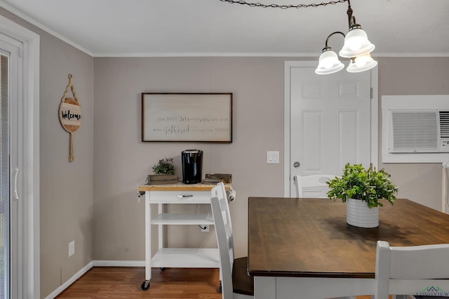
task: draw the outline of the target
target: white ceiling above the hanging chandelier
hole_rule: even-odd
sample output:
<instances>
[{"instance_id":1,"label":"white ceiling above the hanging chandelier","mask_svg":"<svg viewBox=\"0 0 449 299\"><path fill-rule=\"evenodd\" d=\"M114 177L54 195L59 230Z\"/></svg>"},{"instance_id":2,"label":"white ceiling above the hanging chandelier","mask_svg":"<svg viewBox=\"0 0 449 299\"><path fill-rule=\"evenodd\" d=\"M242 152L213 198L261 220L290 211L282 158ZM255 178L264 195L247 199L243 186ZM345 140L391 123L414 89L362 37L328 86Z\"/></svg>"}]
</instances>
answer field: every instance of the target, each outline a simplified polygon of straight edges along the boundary
<instances>
[{"instance_id":1,"label":"white ceiling above the hanging chandelier","mask_svg":"<svg viewBox=\"0 0 449 299\"><path fill-rule=\"evenodd\" d=\"M247 0L311 4L326 0ZM93 56L317 56L348 31L347 2L260 8L220 0L0 0ZM449 56L448 0L351 0L376 56ZM341 35L329 46L339 51Z\"/></svg>"}]
</instances>

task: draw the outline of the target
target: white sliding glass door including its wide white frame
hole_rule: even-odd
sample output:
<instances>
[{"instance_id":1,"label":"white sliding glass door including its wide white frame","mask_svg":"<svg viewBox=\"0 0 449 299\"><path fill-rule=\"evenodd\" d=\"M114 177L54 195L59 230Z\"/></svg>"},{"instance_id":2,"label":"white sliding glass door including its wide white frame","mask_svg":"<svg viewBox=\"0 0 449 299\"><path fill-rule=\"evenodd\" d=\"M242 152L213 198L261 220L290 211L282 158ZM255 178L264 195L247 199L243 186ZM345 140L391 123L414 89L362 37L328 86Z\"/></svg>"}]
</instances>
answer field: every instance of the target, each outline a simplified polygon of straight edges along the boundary
<instances>
[{"instance_id":1,"label":"white sliding glass door including its wide white frame","mask_svg":"<svg viewBox=\"0 0 449 299\"><path fill-rule=\"evenodd\" d=\"M0 298L40 298L39 35L3 16L0 32Z\"/></svg>"}]
</instances>

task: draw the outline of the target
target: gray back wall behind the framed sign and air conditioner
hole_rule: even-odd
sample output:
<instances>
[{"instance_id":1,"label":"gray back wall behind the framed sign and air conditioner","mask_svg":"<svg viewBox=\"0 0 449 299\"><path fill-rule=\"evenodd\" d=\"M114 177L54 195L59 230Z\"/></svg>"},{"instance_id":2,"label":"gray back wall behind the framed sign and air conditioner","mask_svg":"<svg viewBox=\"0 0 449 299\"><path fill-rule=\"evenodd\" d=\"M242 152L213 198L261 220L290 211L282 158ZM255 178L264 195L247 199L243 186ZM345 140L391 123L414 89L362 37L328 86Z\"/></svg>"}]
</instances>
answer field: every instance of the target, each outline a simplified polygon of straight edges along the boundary
<instances>
[{"instance_id":1,"label":"gray back wall behind the framed sign and air conditioner","mask_svg":"<svg viewBox=\"0 0 449 299\"><path fill-rule=\"evenodd\" d=\"M280 164L266 164L265 154L283 153L283 63L295 59L95 58L93 258L145 258L144 201L137 201L136 187L163 157L175 157L181 175L180 152L188 148L204 150L204 172L232 173L237 192L230 205L236 255L246 255L248 197L283 196L283 157ZM449 58L380 58L379 95L449 94L448 69ZM140 142L141 92L234 93L234 141L229 145ZM381 117L380 113L379 124ZM381 156L380 140L381 134ZM441 209L441 164L380 167L391 172L400 187L398 197ZM171 246L215 241L213 234L202 241L205 233L197 227L170 229ZM156 241L154 237L153 250Z\"/></svg>"}]
</instances>

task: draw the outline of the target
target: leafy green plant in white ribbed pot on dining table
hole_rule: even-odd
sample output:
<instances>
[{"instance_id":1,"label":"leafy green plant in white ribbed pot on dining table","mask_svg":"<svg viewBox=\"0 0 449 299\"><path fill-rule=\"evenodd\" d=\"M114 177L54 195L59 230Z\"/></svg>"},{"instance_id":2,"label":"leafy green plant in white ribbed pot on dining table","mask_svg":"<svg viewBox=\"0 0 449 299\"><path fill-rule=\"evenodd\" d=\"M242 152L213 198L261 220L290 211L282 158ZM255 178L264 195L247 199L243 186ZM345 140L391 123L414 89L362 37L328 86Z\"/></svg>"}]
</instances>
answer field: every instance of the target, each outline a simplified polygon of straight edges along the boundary
<instances>
[{"instance_id":1,"label":"leafy green plant in white ribbed pot on dining table","mask_svg":"<svg viewBox=\"0 0 449 299\"><path fill-rule=\"evenodd\" d=\"M358 227L379 226L381 200L393 204L398 192L384 169L376 171L373 166L366 169L361 164L346 164L341 177L326 183L330 188L328 197L347 202L347 222Z\"/></svg>"}]
</instances>

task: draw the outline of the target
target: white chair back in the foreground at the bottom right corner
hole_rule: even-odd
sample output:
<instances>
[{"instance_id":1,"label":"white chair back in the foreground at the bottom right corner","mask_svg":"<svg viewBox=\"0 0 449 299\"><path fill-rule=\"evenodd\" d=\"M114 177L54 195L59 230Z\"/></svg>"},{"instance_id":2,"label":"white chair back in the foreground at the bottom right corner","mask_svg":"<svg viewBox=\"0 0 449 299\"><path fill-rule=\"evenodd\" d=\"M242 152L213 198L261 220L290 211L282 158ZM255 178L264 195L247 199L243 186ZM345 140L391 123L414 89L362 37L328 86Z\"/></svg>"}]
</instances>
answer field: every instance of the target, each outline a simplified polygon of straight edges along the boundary
<instances>
[{"instance_id":1,"label":"white chair back in the foreground at the bottom right corner","mask_svg":"<svg viewBox=\"0 0 449 299\"><path fill-rule=\"evenodd\" d=\"M449 244L399 247L377 241L374 298L389 294L449 298Z\"/></svg>"}]
</instances>

